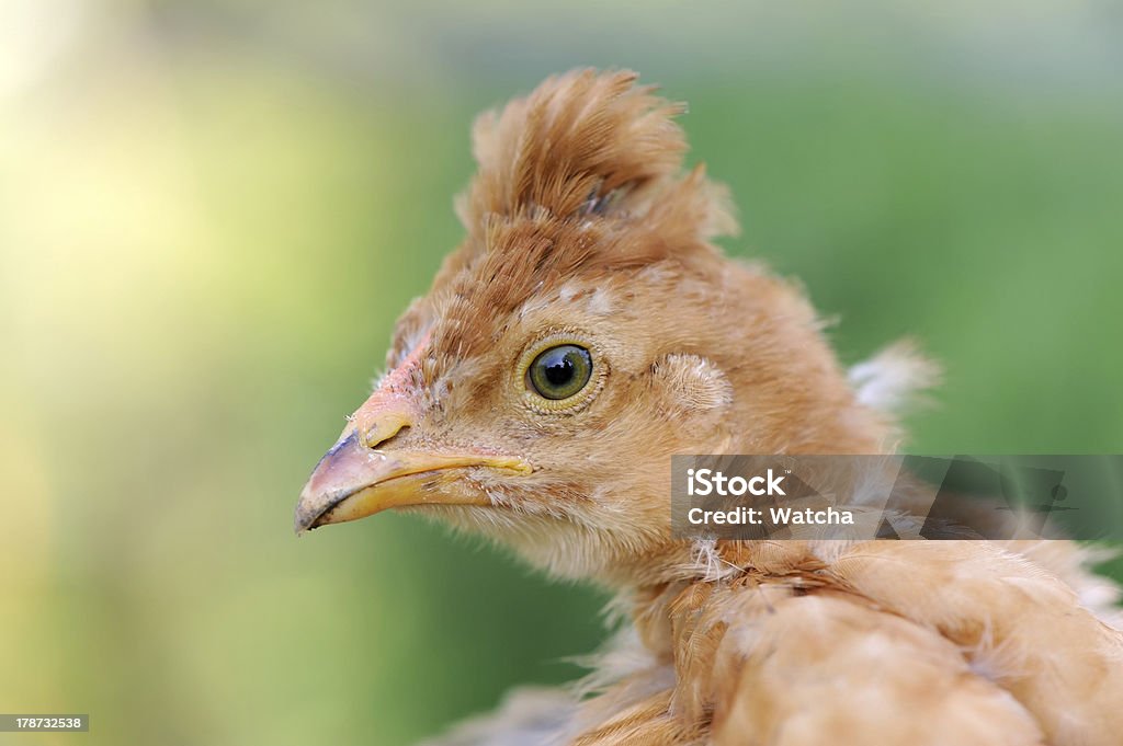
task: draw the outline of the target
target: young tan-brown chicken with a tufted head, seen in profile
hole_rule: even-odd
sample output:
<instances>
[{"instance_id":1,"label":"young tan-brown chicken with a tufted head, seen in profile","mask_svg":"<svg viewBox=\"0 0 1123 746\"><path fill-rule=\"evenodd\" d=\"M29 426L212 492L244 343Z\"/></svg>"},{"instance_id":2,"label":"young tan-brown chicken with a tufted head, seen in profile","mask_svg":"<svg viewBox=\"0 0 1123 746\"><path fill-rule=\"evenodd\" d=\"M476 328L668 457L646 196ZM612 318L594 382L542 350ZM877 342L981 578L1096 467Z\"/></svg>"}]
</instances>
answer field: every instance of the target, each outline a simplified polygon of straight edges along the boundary
<instances>
[{"instance_id":1,"label":"young tan-brown chicken with a tufted head, seen in profile","mask_svg":"<svg viewBox=\"0 0 1123 746\"><path fill-rule=\"evenodd\" d=\"M299 531L437 516L617 593L581 688L447 744L1123 743L1115 588L1066 542L675 540L675 453L885 453L910 379L848 379L798 286L711 243L682 108L575 72L486 113L466 231L316 468Z\"/></svg>"}]
</instances>

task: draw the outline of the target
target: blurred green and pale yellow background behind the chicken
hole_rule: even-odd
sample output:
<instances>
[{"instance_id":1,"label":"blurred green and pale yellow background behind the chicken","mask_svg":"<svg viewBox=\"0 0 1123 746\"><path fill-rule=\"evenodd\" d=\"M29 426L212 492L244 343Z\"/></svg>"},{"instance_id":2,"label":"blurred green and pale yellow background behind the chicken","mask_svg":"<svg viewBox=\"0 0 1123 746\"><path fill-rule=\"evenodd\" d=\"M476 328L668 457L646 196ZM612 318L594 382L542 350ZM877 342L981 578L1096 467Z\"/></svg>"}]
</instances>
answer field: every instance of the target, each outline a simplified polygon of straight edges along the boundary
<instances>
[{"instance_id":1,"label":"blurred green and pale yellow background behind the chicken","mask_svg":"<svg viewBox=\"0 0 1123 746\"><path fill-rule=\"evenodd\" d=\"M690 102L731 252L930 452L1123 451L1117 2L0 0L0 711L33 744L407 744L559 682L595 592L304 477L459 239L480 110L577 65ZM1119 565L1116 565L1119 569ZM18 742L0 734L0 743Z\"/></svg>"}]
</instances>

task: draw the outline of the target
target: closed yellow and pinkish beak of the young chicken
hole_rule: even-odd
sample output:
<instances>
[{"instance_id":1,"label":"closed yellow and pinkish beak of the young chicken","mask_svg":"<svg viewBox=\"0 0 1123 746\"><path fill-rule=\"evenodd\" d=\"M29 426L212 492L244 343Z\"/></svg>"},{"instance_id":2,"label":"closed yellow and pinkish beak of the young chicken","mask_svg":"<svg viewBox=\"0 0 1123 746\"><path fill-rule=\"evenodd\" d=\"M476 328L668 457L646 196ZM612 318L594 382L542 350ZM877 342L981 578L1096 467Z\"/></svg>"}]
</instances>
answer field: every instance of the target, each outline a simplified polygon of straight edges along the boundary
<instances>
[{"instance_id":1,"label":"closed yellow and pinkish beak of the young chicken","mask_svg":"<svg viewBox=\"0 0 1123 746\"><path fill-rule=\"evenodd\" d=\"M296 533L409 505L490 506L482 491L447 489L472 467L531 471L530 464L512 457L377 451L365 448L358 432L351 431L320 459L304 485L296 504Z\"/></svg>"}]
</instances>

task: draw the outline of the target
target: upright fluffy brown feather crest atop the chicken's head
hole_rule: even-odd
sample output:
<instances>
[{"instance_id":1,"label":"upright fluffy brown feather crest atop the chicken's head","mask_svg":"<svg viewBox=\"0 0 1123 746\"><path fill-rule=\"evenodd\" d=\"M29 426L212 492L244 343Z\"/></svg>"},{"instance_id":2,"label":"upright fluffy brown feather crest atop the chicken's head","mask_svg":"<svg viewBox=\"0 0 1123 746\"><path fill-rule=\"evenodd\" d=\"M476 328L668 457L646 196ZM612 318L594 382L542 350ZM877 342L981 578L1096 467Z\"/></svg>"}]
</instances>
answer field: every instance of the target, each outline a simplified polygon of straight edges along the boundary
<instances>
[{"instance_id":1,"label":"upright fluffy brown feather crest atop the chicken's head","mask_svg":"<svg viewBox=\"0 0 1123 746\"><path fill-rule=\"evenodd\" d=\"M679 178L686 139L674 117L685 107L636 80L629 71L573 71L481 116L478 173L457 203L469 233L482 238L491 215L634 218L656 203L674 206L667 197L703 237L734 232L723 191L701 172Z\"/></svg>"}]
</instances>

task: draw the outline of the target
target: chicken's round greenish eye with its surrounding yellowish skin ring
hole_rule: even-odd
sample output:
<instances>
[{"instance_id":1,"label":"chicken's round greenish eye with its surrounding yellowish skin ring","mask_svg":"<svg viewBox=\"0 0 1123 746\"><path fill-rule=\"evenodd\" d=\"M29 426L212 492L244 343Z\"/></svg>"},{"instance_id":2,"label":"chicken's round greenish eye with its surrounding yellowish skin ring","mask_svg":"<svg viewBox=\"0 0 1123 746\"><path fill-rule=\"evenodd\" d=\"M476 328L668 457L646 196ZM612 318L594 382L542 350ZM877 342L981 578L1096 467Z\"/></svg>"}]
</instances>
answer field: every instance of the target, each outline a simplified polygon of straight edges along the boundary
<instances>
[{"instance_id":1,"label":"chicken's round greenish eye with its surrounding yellowish skin ring","mask_svg":"<svg viewBox=\"0 0 1123 746\"><path fill-rule=\"evenodd\" d=\"M515 383L535 412L572 414L600 392L605 372L595 346L570 334L551 334L522 353Z\"/></svg>"}]
</instances>

